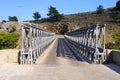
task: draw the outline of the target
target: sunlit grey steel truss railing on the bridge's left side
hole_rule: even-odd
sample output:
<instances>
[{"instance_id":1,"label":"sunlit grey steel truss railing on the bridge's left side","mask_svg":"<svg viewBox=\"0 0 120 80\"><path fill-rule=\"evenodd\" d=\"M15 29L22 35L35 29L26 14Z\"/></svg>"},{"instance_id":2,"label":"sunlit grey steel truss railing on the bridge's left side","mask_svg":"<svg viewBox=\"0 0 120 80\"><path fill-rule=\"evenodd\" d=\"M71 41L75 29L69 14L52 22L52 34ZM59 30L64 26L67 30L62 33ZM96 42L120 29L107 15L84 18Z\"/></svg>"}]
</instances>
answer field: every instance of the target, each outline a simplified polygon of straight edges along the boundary
<instances>
[{"instance_id":1,"label":"sunlit grey steel truss railing on the bridge's left side","mask_svg":"<svg viewBox=\"0 0 120 80\"><path fill-rule=\"evenodd\" d=\"M55 33L35 25L22 26L22 50L20 64L33 64L53 42Z\"/></svg>"}]
</instances>

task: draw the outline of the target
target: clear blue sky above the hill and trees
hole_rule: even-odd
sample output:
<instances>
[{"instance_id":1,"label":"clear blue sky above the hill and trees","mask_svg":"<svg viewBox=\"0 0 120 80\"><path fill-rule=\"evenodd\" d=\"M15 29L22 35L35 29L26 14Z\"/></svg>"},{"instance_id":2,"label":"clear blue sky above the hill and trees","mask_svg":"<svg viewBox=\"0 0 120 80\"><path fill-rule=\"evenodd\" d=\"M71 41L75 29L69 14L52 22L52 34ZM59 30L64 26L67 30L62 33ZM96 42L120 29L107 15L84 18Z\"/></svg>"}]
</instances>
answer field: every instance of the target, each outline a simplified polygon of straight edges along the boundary
<instances>
[{"instance_id":1,"label":"clear blue sky above the hill and trees","mask_svg":"<svg viewBox=\"0 0 120 80\"><path fill-rule=\"evenodd\" d=\"M39 12L47 17L48 8L56 7L61 14L74 14L95 11L99 5L104 8L114 7L118 0L1 0L0 21L8 16L17 16L20 21L33 20L33 13Z\"/></svg>"}]
</instances>

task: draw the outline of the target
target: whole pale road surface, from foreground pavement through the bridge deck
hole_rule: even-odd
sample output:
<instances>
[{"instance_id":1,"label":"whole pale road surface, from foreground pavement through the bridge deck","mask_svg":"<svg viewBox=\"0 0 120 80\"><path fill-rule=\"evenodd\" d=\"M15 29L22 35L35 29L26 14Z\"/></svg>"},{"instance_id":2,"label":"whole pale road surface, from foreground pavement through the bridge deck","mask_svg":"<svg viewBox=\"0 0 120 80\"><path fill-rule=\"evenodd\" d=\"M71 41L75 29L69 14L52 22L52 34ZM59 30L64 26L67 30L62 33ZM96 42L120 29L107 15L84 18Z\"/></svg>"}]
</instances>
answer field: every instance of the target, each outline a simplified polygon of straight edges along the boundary
<instances>
[{"instance_id":1,"label":"whole pale road surface, from foreground pavement through the bridge deck","mask_svg":"<svg viewBox=\"0 0 120 80\"><path fill-rule=\"evenodd\" d=\"M0 80L120 80L106 65L88 64L78 59L58 36L36 65L2 65ZM120 71L120 68L117 69Z\"/></svg>"}]
</instances>

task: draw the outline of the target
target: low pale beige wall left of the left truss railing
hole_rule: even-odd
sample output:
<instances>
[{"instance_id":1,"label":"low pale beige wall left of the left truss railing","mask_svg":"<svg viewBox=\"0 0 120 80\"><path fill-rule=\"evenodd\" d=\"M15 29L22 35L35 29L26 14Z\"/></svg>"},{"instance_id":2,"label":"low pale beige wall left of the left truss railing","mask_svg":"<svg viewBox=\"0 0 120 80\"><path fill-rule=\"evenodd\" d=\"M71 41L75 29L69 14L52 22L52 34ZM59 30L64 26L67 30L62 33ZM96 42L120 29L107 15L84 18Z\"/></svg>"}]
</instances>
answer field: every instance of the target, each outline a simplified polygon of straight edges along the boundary
<instances>
[{"instance_id":1,"label":"low pale beige wall left of the left truss railing","mask_svg":"<svg viewBox=\"0 0 120 80\"><path fill-rule=\"evenodd\" d=\"M0 50L0 64L18 63L18 56L18 49Z\"/></svg>"}]
</instances>

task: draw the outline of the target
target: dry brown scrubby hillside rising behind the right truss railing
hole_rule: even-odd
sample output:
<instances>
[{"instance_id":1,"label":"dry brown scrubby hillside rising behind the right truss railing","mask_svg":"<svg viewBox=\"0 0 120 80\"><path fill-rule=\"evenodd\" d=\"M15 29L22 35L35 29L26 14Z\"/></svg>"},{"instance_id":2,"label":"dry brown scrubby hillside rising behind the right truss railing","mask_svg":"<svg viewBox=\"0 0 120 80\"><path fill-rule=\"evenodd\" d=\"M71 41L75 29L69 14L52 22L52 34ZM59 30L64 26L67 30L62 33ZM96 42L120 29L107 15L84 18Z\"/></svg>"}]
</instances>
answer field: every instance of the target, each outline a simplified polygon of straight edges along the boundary
<instances>
[{"instance_id":1,"label":"dry brown scrubby hillside rising behind the right truss railing","mask_svg":"<svg viewBox=\"0 0 120 80\"><path fill-rule=\"evenodd\" d=\"M113 42L112 35L120 33L120 22L115 21L111 14L115 11L115 8L105 9L103 14L97 14L96 11L84 12L65 15L62 22L69 23L73 25L71 30L85 27L87 25L93 24L106 24L106 38L107 42Z\"/></svg>"}]
</instances>

